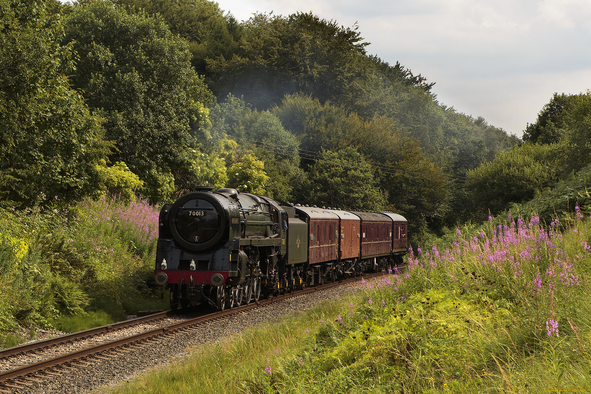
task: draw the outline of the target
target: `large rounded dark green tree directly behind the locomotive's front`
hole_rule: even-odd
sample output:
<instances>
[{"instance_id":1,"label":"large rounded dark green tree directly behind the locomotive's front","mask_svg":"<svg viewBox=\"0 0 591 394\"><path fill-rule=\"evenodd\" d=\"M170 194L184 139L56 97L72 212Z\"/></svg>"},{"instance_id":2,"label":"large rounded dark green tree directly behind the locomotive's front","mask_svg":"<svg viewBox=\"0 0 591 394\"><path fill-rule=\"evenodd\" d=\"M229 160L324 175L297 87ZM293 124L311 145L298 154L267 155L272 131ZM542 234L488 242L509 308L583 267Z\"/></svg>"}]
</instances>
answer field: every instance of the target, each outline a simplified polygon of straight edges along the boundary
<instances>
[{"instance_id":1,"label":"large rounded dark green tree directly behind the locomotive's front","mask_svg":"<svg viewBox=\"0 0 591 394\"><path fill-rule=\"evenodd\" d=\"M73 6L64 43L79 57L73 86L105 118L106 138L115 142L111 160L124 161L152 201L166 200L173 174L191 170L187 149L196 146L213 99L186 44L163 19L100 0Z\"/></svg>"}]
</instances>

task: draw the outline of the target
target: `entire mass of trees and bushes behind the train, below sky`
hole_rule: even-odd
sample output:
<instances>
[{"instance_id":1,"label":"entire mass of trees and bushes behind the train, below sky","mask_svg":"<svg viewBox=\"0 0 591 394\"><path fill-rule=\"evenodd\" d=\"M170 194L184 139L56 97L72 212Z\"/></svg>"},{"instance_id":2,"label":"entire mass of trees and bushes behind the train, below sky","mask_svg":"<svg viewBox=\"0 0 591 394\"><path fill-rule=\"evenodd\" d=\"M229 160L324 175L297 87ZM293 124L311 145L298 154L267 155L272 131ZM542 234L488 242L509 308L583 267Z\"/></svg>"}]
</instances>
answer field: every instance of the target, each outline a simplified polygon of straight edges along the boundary
<instances>
[{"instance_id":1,"label":"entire mass of trees and bushes behind the train, below sky","mask_svg":"<svg viewBox=\"0 0 591 394\"><path fill-rule=\"evenodd\" d=\"M397 211L414 246L591 214L589 91L520 141L366 46L205 0L0 0L0 331L157 307L158 206L196 185Z\"/></svg>"}]
</instances>

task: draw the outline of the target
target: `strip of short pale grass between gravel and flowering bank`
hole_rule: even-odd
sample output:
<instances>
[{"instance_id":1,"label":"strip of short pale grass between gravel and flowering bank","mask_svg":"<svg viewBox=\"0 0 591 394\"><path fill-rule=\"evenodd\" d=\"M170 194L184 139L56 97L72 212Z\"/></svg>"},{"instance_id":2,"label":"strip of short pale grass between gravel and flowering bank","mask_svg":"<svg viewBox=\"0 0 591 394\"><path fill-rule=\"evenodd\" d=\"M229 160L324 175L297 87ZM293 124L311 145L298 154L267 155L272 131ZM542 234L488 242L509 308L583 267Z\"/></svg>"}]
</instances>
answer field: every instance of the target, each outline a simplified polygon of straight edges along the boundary
<instances>
[{"instance_id":1,"label":"strip of short pale grass between gravel and flowering bank","mask_svg":"<svg viewBox=\"0 0 591 394\"><path fill-rule=\"evenodd\" d=\"M365 292L361 292L365 294ZM351 295L350 299L362 297ZM298 316L288 316L264 327L251 328L222 343L191 349L183 362L124 383L116 393L238 393L244 377L264 373L278 357L294 356L319 321L334 320L349 299L327 301ZM220 333L223 335L223 333Z\"/></svg>"}]
</instances>

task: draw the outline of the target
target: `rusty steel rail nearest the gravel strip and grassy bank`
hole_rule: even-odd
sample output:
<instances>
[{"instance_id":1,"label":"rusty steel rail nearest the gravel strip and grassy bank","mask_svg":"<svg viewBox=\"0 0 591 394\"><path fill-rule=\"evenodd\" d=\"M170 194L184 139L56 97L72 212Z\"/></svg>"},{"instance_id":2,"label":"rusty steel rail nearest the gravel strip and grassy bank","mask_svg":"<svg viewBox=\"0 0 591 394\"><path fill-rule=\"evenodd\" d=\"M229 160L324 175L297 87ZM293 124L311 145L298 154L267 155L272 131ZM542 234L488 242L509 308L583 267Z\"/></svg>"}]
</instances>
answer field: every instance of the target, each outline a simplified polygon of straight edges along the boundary
<instances>
[{"instance_id":1,"label":"rusty steel rail nearest the gravel strip and grassy bank","mask_svg":"<svg viewBox=\"0 0 591 394\"><path fill-rule=\"evenodd\" d=\"M100 351L105 351L108 349L113 349L119 346L123 346L125 344L133 343L138 340L142 340L148 337L157 336L158 334L168 333L168 331L178 330L179 328L186 327L187 325L193 325L196 323L202 323L203 321L212 320L214 318L222 317L225 315L235 314L238 312L242 312L249 309L254 309L257 307L261 307L262 305L272 304L273 302L281 301L284 299L298 297L299 295L305 295L313 292L317 292L319 290L331 288L333 286L348 284L356 281L361 281L365 278L372 278L373 276L379 275L387 275L387 272L375 272L375 273L368 273L362 276L357 276L355 278L350 279L343 279L341 281L330 282L328 284L314 286L311 288L303 289L300 291L292 292L290 294L283 294L278 295L277 297L271 297L264 299L258 302L252 302L248 305L242 305L238 308L232 308L229 310L225 310L223 312L214 312L208 315L203 315L200 317L192 318L189 320L181 321L178 323L170 324L165 327L155 328L154 330L145 331L144 333L134 334L129 337L119 338L117 340L109 341L107 343L99 344L92 347L87 347L86 349L76 350L71 353L62 354L60 356L53 357L51 359L43 360L41 362L25 365L22 367L18 367L15 369L2 371L0 372L0 382L5 382L6 380L10 379L17 379L20 376L28 375L29 373L40 372L43 369L51 368L58 366L59 364L69 362L71 360L80 359L82 357L91 356L94 353L99 353ZM164 312L163 312L164 313ZM153 315L152 315L153 316ZM149 317L149 316L146 316ZM135 319L134 319L135 320ZM105 326L108 327L108 326ZM87 330L90 331L90 330ZM85 331L82 331L85 332ZM18 382L17 382L18 383Z\"/></svg>"}]
</instances>

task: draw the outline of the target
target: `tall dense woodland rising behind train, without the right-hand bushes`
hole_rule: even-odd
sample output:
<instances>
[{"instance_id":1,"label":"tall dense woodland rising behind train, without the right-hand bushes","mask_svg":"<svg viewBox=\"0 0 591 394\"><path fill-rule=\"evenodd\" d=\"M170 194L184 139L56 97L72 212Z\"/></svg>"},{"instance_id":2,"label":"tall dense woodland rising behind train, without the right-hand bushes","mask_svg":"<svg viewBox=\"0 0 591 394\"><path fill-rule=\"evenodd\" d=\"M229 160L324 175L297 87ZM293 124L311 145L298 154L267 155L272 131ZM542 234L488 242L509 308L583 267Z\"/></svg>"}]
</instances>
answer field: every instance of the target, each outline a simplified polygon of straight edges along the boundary
<instances>
[{"instance_id":1,"label":"tall dense woodland rising behind train, without the right-hand bushes","mask_svg":"<svg viewBox=\"0 0 591 394\"><path fill-rule=\"evenodd\" d=\"M467 172L519 142L366 53L357 27L313 14L238 22L203 0L2 0L2 10L6 206L115 190L106 174L117 162L163 203L194 185L239 187L228 168L262 161L261 193L399 211L417 236L472 217Z\"/></svg>"}]
</instances>

